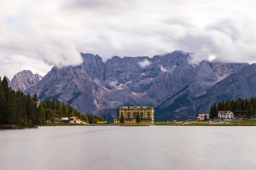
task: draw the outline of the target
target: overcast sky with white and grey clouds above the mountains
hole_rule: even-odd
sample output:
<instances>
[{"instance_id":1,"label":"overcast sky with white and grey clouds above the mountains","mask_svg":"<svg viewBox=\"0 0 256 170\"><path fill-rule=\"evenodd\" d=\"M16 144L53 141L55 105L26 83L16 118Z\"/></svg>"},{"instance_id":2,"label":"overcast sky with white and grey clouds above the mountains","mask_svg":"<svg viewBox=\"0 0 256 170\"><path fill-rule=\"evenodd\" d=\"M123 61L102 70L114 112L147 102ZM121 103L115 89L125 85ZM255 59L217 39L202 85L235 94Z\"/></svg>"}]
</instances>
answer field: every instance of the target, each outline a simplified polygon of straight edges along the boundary
<instances>
[{"instance_id":1,"label":"overcast sky with white and grey clouds above the mountains","mask_svg":"<svg viewBox=\"0 0 256 170\"><path fill-rule=\"evenodd\" d=\"M256 62L255 0L0 0L0 76L45 75L80 52ZM142 65L148 63L141 63Z\"/></svg>"}]
</instances>

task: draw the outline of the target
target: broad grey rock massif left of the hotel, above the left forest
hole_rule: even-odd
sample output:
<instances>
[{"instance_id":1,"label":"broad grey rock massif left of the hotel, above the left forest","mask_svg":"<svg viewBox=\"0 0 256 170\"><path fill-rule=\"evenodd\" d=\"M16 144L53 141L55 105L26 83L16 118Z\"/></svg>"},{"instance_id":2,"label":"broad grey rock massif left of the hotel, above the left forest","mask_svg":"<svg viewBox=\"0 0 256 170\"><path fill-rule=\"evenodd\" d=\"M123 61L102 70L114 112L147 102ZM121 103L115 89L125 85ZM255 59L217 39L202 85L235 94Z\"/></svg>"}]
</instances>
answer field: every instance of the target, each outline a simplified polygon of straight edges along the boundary
<instances>
[{"instance_id":1,"label":"broad grey rock massif left of the hotel, above the left forest","mask_svg":"<svg viewBox=\"0 0 256 170\"><path fill-rule=\"evenodd\" d=\"M97 93L93 79L103 79L104 64L98 55L81 54L83 64L57 68L25 93L36 93L39 99L58 99L82 113L98 113Z\"/></svg>"}]
</instances>

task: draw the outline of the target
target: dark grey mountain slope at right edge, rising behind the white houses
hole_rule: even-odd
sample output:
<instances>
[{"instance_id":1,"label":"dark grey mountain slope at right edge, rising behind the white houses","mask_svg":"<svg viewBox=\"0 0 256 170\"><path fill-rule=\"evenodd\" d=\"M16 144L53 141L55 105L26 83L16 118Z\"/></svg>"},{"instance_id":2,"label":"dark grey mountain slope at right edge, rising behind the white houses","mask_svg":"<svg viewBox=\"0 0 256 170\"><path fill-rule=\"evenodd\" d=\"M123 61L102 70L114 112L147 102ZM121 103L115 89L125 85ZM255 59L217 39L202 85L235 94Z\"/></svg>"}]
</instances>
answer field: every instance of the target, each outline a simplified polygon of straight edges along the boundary
<instances>
[{"instance_id":1,"label":"dark grey mountain slope at right edge, rising behind the white houses","mask_svg":"<svg viewBox=\"0 0 256 170\"><path fill-rule=\"evenodd\" d=\"M216 83L208 93L196 99L195 102L198 104L198 112L201 112L202 110L209 110L213 102L239 97L243 99L256 97L255 63Z\"/></svg>"}]
</instances>

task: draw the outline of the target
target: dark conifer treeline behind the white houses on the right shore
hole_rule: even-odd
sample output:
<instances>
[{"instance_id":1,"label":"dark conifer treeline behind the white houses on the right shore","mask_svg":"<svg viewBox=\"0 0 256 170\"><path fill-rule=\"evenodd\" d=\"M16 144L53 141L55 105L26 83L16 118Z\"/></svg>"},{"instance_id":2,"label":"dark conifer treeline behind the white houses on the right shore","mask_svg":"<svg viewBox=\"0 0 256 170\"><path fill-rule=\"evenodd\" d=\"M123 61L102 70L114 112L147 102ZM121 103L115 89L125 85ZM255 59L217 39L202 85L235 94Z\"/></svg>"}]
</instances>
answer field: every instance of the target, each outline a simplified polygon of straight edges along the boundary
<instances>
[{"instance_id":1,"label":"dark conifer treeline behind the white houses on the right shore","mask_svg":"<svg viewBox=\"0 0 256 170\"><path fill-rule=\"evenodd\" d=\"M235 113L236 111L247 111L247 116L256 115L256 98L228 100L219 102L218 105L213 103L211 106L209 116L210 118L218 117L218 111L220 110L231 110Z\"/></svg>"}]
</instances>

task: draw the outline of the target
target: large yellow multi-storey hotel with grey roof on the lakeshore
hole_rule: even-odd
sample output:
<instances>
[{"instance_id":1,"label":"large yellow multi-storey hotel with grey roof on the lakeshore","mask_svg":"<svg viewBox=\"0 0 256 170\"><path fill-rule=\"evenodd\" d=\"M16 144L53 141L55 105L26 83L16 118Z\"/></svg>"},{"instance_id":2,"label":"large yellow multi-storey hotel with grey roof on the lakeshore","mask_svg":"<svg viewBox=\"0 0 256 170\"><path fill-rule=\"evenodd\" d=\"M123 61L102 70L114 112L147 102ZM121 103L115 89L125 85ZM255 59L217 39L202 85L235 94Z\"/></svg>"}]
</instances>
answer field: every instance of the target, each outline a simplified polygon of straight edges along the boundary
<instances>
[{"instance_id":1,"label":"large yellow multi-storey hotel with grey roof on the lakeshore","mask_svg":"<svg viewBox=\"0 0 256 170\"><path fill-rule=\"evenodd\" d=\"M154 107L150 106L121 106L119 108L119 119L114 119L114 124L120 124L121 114L124 115L125 124L136 124L139 112L142 124L154 123Z\"/></svg>"}]
</instances>

